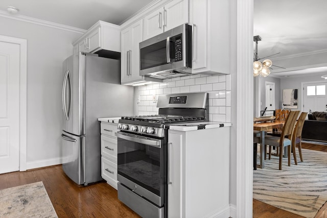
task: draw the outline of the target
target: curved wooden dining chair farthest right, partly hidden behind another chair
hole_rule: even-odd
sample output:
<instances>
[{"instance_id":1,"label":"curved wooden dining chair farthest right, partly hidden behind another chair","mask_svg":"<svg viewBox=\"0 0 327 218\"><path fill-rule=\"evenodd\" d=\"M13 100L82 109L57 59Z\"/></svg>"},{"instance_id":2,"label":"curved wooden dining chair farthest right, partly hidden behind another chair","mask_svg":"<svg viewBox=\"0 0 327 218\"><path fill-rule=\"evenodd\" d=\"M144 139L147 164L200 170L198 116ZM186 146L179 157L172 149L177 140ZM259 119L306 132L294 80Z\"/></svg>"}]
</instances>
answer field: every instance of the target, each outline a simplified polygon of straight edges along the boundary
<instances>
[{"instance_id":1,"label":"curved wooden dining chair farthest right, partly hidden behind another chair","mask_svg":"<svg viewBox=\"0 0 327 218\"><path fill-rule=\"evenodd\" d=\"M300 155L300 160L303 162L302 158L302 146L301 146L301 139L302 139L302 129L303 125L305 124L305 119L307 117L308 112L302 112L296 122L295 128L294 128L294 133L292 137L292 152L294 156L294 162L295 165L297 165L297 160L296 160L296 153L295 153L295 147L297 144L298 148L298 153Z\"/></svg>"}]
</instances>

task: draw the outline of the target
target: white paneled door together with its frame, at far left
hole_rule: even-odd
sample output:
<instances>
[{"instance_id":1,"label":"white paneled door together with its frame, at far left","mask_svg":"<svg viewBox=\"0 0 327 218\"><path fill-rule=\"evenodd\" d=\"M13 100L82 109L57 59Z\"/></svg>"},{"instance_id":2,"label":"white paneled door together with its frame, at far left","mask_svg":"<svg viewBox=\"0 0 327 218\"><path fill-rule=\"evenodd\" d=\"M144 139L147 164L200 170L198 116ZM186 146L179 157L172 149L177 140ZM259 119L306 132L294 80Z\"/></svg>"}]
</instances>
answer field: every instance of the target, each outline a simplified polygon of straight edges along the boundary
<instances>
[{"instance_id":1,"label":"white paneled door together with its frame, at far left","mask_svg":"<svg viewBox=\"0 0 327 218\"><path fill-rule=\"evenodd\" d=\"M0 84L0 173L26 171L26 39L0 35Z\"/></svg>"}]
</instances>

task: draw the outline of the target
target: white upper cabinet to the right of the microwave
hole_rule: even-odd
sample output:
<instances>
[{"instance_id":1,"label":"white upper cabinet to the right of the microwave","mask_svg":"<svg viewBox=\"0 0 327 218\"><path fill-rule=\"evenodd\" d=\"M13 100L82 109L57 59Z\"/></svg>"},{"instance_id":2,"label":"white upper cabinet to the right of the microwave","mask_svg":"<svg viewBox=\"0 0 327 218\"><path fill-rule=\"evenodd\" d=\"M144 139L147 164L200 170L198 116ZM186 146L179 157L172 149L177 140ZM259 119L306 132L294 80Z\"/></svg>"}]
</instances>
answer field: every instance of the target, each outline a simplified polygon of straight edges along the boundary
<instances>
[{"instance_id":1,"label":"white upper cabinet to the right of the microwave","mask_svg":"<svg viewBox=\"0 0 327 218\"><path fill-rule=\"evenodd\" d=\"M192 73L230 74L229 0L190 0Z\"/></svg>"}]
</instances>

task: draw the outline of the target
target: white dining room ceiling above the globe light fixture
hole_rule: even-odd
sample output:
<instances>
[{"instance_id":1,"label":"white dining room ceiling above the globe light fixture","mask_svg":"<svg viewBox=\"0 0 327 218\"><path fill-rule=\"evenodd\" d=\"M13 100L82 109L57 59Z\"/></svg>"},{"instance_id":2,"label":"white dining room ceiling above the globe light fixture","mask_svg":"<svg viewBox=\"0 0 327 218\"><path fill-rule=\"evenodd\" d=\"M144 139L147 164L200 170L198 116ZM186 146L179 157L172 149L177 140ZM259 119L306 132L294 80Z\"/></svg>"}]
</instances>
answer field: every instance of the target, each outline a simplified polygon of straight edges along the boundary
<instances>
[{"instance_id":1,"label":"white dining room ceiling above the globe light fixture","mask_svg":"<svg viewBox=\"0 0 327 218\"><path fill-rule=\"evenodd\" d=\"M259 58L280 52L270 59L281 59L327 49L326 0L254 0L253 10L253 35L262 38L258 42ZM301 69L276 75L321 71L326 71L326 68Z\"/></svg>"}]
</instances>

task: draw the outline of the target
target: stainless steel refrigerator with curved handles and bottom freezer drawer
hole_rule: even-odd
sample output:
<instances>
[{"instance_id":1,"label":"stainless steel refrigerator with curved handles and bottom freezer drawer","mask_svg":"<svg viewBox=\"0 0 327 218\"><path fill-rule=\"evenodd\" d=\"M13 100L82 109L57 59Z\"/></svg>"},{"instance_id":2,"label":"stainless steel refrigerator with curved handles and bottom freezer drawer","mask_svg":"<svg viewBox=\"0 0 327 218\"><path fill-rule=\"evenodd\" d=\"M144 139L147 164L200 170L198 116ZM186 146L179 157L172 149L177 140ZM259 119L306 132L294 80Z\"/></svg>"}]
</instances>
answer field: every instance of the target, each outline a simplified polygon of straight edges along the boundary
<instances>
[{"instance_id":1,"label":"stainless steel refrigerator with curved handles and bottom freezer drawer","mask_svg":"<svg viewBox=\"0 0 327 218\"><path fill-rule=\"evenodd\" d=\"M119 60L79 53L63 62L62 168L79 185L102 180L98 118L133 114L134 89L120 78Z\"/></svg>"}]
</instances>

